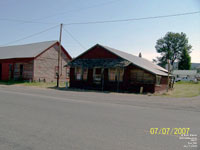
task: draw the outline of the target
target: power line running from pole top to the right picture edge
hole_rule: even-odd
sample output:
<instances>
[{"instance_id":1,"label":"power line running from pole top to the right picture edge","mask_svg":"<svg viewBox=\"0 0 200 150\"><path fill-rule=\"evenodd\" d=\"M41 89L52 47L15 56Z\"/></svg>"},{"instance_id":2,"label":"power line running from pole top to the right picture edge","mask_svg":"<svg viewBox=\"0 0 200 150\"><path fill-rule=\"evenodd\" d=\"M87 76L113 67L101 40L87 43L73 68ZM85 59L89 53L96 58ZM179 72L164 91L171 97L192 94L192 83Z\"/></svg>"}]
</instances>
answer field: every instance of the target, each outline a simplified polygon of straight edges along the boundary
<instances>
[{"instance_id":1,"label":"power line running from pole top to the right picture edge","mask_svg":"<svg viewBox=\"0 0 200 150\"><path fill-rule=\"evenodd\" d=\"M75 23L67 23L67 24L64 24L64 25L83 25L83 24L103 24L103 23L128 22L128 21L139 21L139 20L150 20L150 19L186 16L186 15L193 15L193 14L199 14L199 13L200 13L200 11L196 11L196 12L188 12L188 13L180 13L180 14L172 14L172 15L163 15L163 16L153 16L153 17L143 17L143 18L129 18L129 19L89 21L89 22L75 22Z\"/></svg>"}]
</instances>

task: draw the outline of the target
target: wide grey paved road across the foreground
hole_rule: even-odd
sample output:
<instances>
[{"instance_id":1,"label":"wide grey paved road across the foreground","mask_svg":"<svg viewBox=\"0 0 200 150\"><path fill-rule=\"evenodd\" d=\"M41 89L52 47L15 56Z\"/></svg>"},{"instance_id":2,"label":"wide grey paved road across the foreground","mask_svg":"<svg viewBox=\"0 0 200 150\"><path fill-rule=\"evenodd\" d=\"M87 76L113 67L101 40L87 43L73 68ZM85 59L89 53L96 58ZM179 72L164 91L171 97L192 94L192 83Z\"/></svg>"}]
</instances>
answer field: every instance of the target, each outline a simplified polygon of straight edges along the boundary
<instances>
[{"instance_id":1,"label":"wide grey paved road across the foreground","mask_svg":"<svg viewBox=\"0 0 200 150\"><path fill-rule=\"evenodd\" d=\"M178 136L150 135L153 127L191 128L199 136L200 97L0 86L0 150L189 149Z\"/></svg>"}]
</instances>

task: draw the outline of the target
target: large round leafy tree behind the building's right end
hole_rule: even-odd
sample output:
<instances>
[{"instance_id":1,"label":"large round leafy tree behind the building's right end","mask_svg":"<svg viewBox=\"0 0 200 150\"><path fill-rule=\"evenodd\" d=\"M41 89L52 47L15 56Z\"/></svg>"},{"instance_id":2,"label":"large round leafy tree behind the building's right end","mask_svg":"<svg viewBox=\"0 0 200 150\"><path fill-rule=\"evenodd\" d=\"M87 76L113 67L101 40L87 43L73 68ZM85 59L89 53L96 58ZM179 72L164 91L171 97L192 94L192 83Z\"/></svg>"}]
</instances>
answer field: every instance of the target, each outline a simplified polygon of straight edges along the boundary
<instances>
[{"instance_id":1,"label":"large round leafy tree behind the building's right end","mask_svg":"<svg viewBox=\"0 0 200 150\"><path fill-rule=\"evenodd\" d=\"M161 55L157 57L158 65L165 67L169 59L173 67L174 62L180 60L182 52L186 50L189 54L192 46L188 44L185 33L168 32L163 38L157 40L155 48Z\"/></svg>"}]
</instances>

